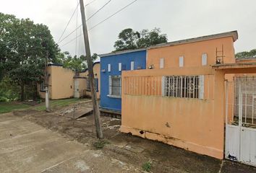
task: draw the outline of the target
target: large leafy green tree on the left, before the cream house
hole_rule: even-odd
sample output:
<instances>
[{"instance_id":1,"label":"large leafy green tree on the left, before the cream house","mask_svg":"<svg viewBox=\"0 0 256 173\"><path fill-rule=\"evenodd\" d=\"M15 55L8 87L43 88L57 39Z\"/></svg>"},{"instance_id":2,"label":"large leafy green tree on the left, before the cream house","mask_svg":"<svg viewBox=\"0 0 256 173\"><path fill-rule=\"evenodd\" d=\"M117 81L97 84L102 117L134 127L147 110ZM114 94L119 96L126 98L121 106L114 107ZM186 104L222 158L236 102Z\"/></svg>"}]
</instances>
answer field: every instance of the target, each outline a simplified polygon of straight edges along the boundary
<instances>
[{"instance_id":1,"label":"large leafy green tree on the left, before the cream house","mask_svg":"<svg viewBox=\"0 0 256 173\"><path fill-rule=\"evenodd\" d=\"M20 86L24 100L25 85L33 82L36 87L43 76L46 52L48 62L54 62L59 48L48 27L30 19L0 13L0 26L1 73Z\"/></svg>"}]
</instances>

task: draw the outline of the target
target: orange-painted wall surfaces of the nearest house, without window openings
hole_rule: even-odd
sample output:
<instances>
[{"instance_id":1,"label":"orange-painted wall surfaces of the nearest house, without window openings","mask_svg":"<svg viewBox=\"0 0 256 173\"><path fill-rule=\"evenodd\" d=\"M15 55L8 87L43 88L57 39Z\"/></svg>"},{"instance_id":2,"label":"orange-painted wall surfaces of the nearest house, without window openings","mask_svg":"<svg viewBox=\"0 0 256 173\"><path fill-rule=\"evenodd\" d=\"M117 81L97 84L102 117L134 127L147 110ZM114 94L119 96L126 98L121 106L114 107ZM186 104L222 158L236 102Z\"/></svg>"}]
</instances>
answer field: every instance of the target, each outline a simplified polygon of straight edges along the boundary
<instances>
[{"instance_id":1,"label":"orange-painted wall surfaces of the nearest house, without window openings","mask_svg":"<svg viewBox=\"0 0 256 173\"><path fill-rule=\"evenodd\" d=\"M216 63L216 47L221 49L222 45L224 63L234 63L233 44L232 37L223 37L149 49L147 66L153 65L155 69L122 71L121 132L223 159L225 76L223 71L216 71L211 66ZM202 53L208 54L207 66L201 65ZM179 68L179 56L184 56L182 68ZM163 69L159 69L160 58L164 58ZM131 92L129 82L132 79L171 75L204 75L204 99ZM140 84L141 81L137 81L135 84ZM145 89L154 88L153 85L146 83Z\"/></svg>"}]
</instances>

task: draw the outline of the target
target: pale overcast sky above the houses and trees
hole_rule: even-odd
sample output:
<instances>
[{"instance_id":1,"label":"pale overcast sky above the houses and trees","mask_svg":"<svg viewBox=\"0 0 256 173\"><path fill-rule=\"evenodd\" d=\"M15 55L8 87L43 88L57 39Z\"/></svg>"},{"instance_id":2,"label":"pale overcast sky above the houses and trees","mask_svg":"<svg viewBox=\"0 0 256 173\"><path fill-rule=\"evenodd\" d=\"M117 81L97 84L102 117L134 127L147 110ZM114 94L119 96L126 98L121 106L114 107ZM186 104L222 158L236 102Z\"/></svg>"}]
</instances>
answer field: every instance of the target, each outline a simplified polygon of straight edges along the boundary
<instances>
[{"instance_id":1,"label":"pale overcast sky above the houses and trees","mask_svg":"<svg viewBox=\"0 0 256 173\"><path fill-rule=\"evenodd\" d=\"M89 17L109 0L84 0ZM101 12L88 21L93 27L134 0L112 0ZM14 14L18 18L30 18L35 23L49 27L54 40L59 37L77 6L77 0L0 0L0 12ZM81 25L80 8L74 14L64 37ZM255 0L137 0L111 19L89 31L92 53L108 53L114 50L119 32L131 27L134 30L160 27L168 35L168 41L211 35L238 30L236 52L256 48ZM74 55L85 52L82 37L64 45L80 35L77 30L59 43L61 50ZM64 46L62 46L64 45ZM77 45L77 46L76 46ZM76 50L77 48L77 50Z\"/></svg>"}]
</instances>

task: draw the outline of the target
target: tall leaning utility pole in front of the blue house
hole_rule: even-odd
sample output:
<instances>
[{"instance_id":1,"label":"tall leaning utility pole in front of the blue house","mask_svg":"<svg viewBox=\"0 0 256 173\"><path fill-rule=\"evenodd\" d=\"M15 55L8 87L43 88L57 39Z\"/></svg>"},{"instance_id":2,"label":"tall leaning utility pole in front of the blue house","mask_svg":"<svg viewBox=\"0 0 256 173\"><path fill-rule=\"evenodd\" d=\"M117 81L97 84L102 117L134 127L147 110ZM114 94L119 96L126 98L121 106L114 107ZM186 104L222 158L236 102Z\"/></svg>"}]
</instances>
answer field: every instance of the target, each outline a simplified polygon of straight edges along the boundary
<instances>
[{"instance_id":1,"label":"tall leaning utility pole in front of the blue house","mask_svg":"<svg viewBox=\"0 0 256 173\"><path fill-rule=\"evenodd\" d=\"M100 119L100 110L98 108L98 102L96 97L96 91L94 88L94 73L93 73L93 61L92 57L90 55L90 44L89 44L89 37L88 37L88 30L86 25L86 18L85 18L85 6L84 1L80 0L80 10L81 10L81 16L82 16L82 31L84 33L84 40L85 40L85 53L86 53L86 61L88 64L88 72L89 72L89 82L90 82L90 92L92 95L92 101L93 101L93 116L95 119L95 128L96 128L96 134L97 138L103 138L103 133L101 129L101 119Z\"/></svg>"}]
</instances>

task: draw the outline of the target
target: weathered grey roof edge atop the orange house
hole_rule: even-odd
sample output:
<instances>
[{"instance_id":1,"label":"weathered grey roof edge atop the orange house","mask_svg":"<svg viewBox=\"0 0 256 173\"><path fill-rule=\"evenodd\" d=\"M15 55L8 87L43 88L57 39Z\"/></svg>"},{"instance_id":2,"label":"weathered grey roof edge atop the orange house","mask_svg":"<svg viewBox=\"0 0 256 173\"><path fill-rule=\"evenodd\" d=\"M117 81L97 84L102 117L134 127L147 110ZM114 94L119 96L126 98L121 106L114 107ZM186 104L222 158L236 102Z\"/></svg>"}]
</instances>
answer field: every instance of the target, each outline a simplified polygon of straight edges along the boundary
<instances>
[{"instance_id":1,"label":"weathered grey roof edge atop the orange house","mask_svg":"<svg viewBox=\"0 0 256 173\"><path fill-rule=\"evenodd\" d=\"M201 37L177 40L177 41L169 42L169 43L161 43L158 45L150 46L148 49L163 48L163 47L167 47L167 46L171 46L171 45L182 45L182 44L187 44L187 43L195 43L195 42L199 42L199 41L213 40L213 39L222 38L222 37L233 37L233 41L235 42L238 39L238 33L235 30L235 31L231 31L231 32L222 32L222 33L218 33L215 35L205 35L205 36L201 36Z\"/></svg>"}]
</instances>

